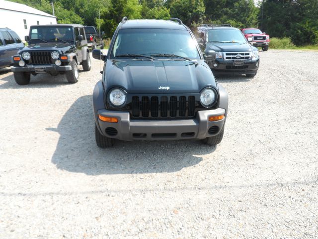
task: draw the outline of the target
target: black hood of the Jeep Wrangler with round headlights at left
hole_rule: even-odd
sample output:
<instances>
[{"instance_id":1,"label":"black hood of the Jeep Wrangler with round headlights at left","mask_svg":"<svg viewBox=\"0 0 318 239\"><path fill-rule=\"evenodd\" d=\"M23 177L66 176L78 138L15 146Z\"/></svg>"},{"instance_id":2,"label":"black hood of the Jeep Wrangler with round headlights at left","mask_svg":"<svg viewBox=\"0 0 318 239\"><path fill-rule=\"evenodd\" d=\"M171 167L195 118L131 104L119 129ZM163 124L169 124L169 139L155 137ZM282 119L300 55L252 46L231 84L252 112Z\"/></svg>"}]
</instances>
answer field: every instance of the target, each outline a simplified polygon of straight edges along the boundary
<instances>
[{"instance_id":1,"label":"black hood of the Jeep Wrangler with round headlights at left","mask_svg":"<svg viewBox=\"0 0 318 239\"><path fill-rule=\"evenodd\" d=\"M21 51L59 51L62 54L74 51L75 45L65 42L39 42L25 46Z\"/></svg>"}]
</instances>

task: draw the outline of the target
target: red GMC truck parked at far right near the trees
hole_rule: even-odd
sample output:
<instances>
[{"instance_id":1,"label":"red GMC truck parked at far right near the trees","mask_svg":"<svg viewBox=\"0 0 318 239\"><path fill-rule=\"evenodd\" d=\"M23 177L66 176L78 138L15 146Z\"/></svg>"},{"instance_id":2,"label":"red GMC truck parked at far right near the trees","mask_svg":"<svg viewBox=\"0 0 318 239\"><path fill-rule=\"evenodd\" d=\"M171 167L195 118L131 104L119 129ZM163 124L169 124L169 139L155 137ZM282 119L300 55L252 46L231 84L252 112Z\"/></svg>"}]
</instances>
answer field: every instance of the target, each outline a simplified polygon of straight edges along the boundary
<instances>
[{"instance_id":1,"label":"red GMC truck parked at far right near the trees","mask_svg":"<svg viewBox=\"0 0 318 239\"><path fill-rule=\"evenodd\" d=\"M249 44L261 47L263 51L267 51L269 47L269 35L257 28L243 28L241 29Z\"/></svg>"}]
</instances>

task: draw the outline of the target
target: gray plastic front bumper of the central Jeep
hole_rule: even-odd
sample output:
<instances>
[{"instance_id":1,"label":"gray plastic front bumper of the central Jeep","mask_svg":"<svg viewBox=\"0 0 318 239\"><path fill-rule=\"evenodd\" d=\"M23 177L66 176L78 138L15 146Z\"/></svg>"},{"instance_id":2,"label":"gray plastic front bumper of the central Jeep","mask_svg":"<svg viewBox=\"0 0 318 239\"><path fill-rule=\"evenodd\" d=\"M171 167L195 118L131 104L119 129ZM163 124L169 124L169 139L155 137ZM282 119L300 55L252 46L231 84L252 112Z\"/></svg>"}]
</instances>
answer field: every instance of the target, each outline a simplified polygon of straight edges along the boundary
<instances>
[{"instance_id":1,"label":"gray plastic front bumper of the central Jeep","mask_svg":"<svg viewBox=\"0 0 318 239\"><path fill-rule=\"evenodd\" d=\"M104 122L97 118L99 131L101 134L120 140L177 140L196 138L203 139L220 133L223 128L225 118L218 121L209 121L210 116L220 116L226 114L225 109L198 111L194 119L165 119L147 120L130 119L129 112L98 110L97 114L105 117L116 117L117 123ZM97 116L96 116L97 117ZM212 126L214 132L208 130ZM115 128L118 133L115 136L108 135L106 128Z\"/></svg>"}]
</instances>

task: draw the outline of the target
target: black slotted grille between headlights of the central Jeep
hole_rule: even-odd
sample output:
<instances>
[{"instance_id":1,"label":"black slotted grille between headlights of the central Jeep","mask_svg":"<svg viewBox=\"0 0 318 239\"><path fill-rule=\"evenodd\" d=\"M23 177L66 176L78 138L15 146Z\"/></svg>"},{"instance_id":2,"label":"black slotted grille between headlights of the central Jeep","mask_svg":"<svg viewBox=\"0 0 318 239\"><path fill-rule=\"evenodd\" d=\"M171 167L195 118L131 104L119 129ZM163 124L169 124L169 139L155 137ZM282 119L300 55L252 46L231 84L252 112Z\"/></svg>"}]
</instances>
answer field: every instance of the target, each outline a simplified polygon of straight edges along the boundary
<instances>
[{"instance_id":1,"label":"black slotted grille between headlights of the central Jeep","mask_svg":"<svg viewBox=\"0 0 318 239\"><path fill-rule=\"evenodd\" d=\"M133 96L133 118L193 118L194 96Z\"/></svg>"}]
</instances>

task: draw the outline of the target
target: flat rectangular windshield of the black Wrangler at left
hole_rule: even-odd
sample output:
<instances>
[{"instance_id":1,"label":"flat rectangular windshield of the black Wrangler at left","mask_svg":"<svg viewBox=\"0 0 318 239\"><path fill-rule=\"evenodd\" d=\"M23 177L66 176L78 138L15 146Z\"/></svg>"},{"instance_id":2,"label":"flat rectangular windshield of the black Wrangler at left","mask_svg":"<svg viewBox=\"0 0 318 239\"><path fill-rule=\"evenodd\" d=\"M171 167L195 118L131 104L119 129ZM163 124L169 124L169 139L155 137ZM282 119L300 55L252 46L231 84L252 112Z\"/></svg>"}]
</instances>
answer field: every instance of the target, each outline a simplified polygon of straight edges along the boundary
<instances>
[{"instance_id":1,"label":"flat rectangular windshield of the black Wrangler at left","mask_svg":"<svg viewBox=\"0 0 318 239\"><path fill-rule=\"evenodd\" d=\"M32 27L30 29L30 40L53 41L74 41L73 28L61 26Z\"/></svg>"}]
</instances>

